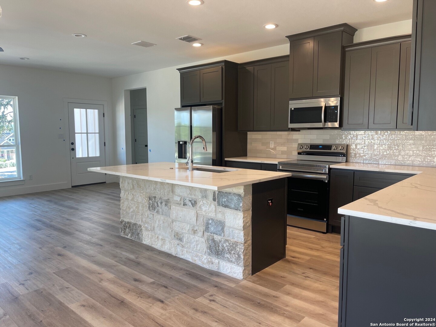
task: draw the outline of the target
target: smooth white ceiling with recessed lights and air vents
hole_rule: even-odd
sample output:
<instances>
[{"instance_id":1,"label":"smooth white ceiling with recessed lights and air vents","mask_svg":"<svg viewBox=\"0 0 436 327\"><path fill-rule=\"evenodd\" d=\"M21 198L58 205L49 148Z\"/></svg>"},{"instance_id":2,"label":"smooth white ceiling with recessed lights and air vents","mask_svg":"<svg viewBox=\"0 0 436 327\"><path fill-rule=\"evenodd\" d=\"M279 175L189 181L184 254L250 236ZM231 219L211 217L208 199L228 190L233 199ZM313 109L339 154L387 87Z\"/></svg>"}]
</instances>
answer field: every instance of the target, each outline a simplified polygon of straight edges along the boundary
<instances>
[{"instance_id":1,"label":"smooth white ceiling with recessed lights and air vents","mask_svg":"<svg viewBox=\"0 0 436 327\"><path fill-rule=\"evenodd\" d=\"M0 0L0 6L0 64L106 77L286 44L286 35L344 22L360 29L412 17L412 0L204 0L198 7L186 0ZM279 27L262 27L269 22ZM176 40L186 34L204 46ZM131 45L136 41L157 46Z\"/></svg>"}]
</instances>

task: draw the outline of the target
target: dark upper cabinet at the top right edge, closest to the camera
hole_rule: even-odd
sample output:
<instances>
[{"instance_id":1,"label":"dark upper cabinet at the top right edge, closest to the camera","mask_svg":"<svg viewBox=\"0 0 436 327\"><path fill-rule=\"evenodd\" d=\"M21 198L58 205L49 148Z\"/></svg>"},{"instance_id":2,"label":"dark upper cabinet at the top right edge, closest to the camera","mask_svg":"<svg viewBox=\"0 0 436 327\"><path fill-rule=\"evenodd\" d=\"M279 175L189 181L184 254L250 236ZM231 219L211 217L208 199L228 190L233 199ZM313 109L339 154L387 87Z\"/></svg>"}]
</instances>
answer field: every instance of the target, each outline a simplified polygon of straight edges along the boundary
<instances>
[{"instance_id":1,"label":"dark upper cabinet at the top right edge, closest to the camera","mask_svg":"<svg viewBox=\"0 0 436 327\"><path fill-rule=\"evenodd\" d=\"M409 125L436 130L436 1L413 0Z\"/></svg>"}]
</instances>

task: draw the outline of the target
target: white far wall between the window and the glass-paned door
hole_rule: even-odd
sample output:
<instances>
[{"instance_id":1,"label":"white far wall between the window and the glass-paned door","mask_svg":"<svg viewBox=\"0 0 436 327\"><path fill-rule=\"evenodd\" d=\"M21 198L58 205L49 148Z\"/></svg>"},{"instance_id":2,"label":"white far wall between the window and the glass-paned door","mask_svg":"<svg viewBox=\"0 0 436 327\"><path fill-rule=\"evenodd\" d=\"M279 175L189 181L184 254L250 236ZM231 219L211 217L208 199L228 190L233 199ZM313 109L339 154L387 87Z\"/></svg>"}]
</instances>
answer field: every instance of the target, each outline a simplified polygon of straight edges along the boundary
<instances>
[{"instance_id":1,"label":"white far wall between the window and the glass-paned door","mask_svg":"<svg viewBox=\"0 0 436 327\"><path fill-rule=\"evenodd\" d=\"M71 187L64 98L108 102L106 151L112 162L111 80L109 78L0 65L0 95L18 97L24 185L1 186L0 196ZM33 175L33 180L27 179Z\"/></svg>"}]
</instances>

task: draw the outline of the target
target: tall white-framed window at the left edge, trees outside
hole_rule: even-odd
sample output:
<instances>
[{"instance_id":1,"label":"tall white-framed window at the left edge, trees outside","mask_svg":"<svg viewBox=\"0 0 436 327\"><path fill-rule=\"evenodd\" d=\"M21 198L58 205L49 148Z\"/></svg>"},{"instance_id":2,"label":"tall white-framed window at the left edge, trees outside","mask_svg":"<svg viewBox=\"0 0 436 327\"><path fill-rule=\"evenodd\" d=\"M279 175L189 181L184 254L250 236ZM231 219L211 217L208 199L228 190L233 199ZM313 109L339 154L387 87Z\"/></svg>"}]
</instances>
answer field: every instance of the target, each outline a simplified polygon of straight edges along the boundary
<instances>
[{"instance_id":1,"label":"tall white-framed window at the left edge, trees outside","mask_svg":"<svg viewBox=\"0 0 436 327\"><path fill-rule=\"evenodd\" d=\"M22 179L16 96L0 95L0 183Z\"/></svg>"}]
</instances>

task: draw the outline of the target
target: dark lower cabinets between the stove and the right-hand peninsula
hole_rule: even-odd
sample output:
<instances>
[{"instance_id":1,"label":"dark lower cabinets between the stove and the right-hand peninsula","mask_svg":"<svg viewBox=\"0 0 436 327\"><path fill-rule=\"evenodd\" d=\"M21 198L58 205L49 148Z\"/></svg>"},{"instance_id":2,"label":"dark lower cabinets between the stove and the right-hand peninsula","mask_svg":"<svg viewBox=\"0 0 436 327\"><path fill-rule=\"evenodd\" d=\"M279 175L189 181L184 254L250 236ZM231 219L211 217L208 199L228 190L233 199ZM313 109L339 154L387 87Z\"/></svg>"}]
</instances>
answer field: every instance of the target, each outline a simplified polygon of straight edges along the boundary
<instances>
[{"instance_id":1,"label":"dark lower cabinets between the stove and the right-hand peninsula","mask_svg":"<svg viewBox=\"0 0 436 327\"><path fill-rule=\"evenodd\" d=\"M369 194L403 181L412 174L397 174L362 170L330 170L329 231L339 232L341 217L337 209Z\"/></svg>"}]
</instances>

